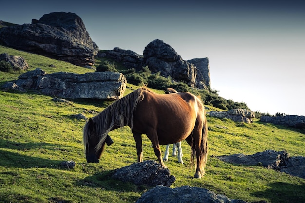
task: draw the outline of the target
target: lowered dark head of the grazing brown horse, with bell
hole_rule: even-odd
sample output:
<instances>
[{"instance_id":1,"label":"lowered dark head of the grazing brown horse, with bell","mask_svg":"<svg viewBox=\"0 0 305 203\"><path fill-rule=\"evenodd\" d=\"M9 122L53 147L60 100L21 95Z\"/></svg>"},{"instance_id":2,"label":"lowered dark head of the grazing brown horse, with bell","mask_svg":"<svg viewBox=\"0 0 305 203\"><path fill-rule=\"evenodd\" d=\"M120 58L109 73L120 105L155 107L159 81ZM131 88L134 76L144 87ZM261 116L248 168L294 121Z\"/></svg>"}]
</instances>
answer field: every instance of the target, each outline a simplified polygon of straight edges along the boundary
<instances>
[{"instance_id":1,"label":"lowered dark head of the grazing brown horse, with bell","mask_svg":"<svg viewBox=\"0 0 305 203\"><path fill-rule=\"evenodd\" d=\"M99 163L99 158L104 150L105 143L113 143L109 135L100 135L97 132L96 123L89 118L83 130L83 139L87 162Z\"/></svg>"}]
</instances>

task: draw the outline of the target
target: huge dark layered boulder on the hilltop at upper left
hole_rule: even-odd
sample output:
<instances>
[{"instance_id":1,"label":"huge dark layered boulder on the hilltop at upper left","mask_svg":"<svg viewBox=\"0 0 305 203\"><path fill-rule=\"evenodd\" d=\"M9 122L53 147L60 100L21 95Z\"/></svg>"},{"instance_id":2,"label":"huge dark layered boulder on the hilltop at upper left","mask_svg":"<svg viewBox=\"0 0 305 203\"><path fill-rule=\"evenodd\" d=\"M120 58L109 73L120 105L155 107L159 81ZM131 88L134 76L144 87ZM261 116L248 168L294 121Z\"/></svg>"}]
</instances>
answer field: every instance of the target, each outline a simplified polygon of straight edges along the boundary
<instances>
[{"instance_id":1,"label":"huge dark layered boulder on the hilltop at upper left","mask_svg":"<svg viewBox=\"0 0 305 203\"><path fill-rule=\"evenodd\" d=\"M78 66L94 65L98 52L82 19L70 12L53 12L33 19L32 24L3 27L0 42Z\"/></svg>"}]
</instances>

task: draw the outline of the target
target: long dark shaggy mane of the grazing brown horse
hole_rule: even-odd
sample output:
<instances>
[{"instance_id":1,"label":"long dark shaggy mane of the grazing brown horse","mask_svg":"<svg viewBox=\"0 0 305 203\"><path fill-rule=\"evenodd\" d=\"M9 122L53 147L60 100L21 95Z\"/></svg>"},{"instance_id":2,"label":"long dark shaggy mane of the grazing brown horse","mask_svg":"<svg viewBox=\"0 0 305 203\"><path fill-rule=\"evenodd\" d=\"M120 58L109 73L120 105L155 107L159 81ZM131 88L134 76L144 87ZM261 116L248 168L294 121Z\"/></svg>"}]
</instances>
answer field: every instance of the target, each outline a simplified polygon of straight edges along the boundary
<instances>
[{"instance_id":1,"label":"long dark shaggy mane of the grazing brown horse","mask_svg":"<svg viewBox=\"0 0 305 203\"><path fill-rule=\"evenodd\" d=\"M91 118L96 123L96 136L99 136L99 142L95 148L96 151L102 148L107 134L114 128L114 126L123 127L124 125L130 124L131 129L133 129L133 112L139 101L143 100L144 91L152 92L145 87L139 88L115 101L102 112ZM86 148L88 148L89 136L90 132L87 122L83 129L85 151Z\"/></svg>"}]
</instances>

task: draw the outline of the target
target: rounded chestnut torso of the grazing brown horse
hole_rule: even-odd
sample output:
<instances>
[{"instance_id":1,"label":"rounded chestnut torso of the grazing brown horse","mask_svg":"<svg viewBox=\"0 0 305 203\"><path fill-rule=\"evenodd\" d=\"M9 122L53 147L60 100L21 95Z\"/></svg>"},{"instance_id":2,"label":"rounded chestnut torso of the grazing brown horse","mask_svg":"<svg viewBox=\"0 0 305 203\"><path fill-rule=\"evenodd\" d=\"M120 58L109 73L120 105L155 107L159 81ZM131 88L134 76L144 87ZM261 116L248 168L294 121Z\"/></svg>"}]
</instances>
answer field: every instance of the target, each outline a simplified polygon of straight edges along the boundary
<instances>
[{"instance_id":1,"label":"rounded chestnut torso of the grazing brown horse","mask_svg":"<svg viewBox=\"0 0 305 203\"><path fill-rule=\"evenodd\" d=\"M191 134L198 116L198 98L189 92L143 92L135 111L134 129L143 134L156 130L160 144L179 142Z\"/></svg>"}]
</instances>

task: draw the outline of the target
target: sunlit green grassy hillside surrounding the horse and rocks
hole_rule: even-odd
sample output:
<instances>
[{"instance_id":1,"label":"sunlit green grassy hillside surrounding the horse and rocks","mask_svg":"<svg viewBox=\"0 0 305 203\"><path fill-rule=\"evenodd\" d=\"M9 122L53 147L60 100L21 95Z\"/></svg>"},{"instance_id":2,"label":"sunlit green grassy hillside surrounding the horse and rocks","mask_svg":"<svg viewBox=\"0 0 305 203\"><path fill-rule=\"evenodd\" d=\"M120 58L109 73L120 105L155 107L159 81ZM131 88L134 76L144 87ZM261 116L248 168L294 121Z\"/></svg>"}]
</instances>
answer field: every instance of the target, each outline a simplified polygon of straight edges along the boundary
<instances>
[{"instance_id":1,"label":"sunlit green grassy hillside surrounding the horse and rocks","mask_svg":"<svg viewBox=\"0 0 305 203\"><path fill-rule=\"evenodd\" d=\"M20 55L30 70L41 67L47 73L92 71L62 61L0 46L0 53ZM50 64L55 68L49 67ZM0 84L18 74L0 72ZM137 86L128 84L126 93ZM155 90L159 93L162 91ZM102 111L109 103L77 100L72 104L53 102L49 96L27 92L0 91L0 202L1 203L133 203L147 191L145 186L126 184L111 178L115 169L137 159L135 142L128 127L114 130L114 144L106 146L99 164L86 163L82 145L84 120L73 115ZM215 108L210 107L211 110ZM91 111L89 111L91 110ZM305 180L261 166L228 164L214 158L234 153L253 154L267 149L287 150L291 156L305 156L305 135L294 129L255 121L236 123L208 117L209 159L206 175L194 179L194 168L169 157L166 166L176 177L171 187L183 185L207 188L229 198L248 202L305 202ZM144 160L156 160L152 145L143 135ZM190 147L182 143L185 163ZM163 152L165 146L162 146ZM212 156L214 155L214 156ZM60 162L74 160L74 169Z\"/></svg>"}]
</instances>

